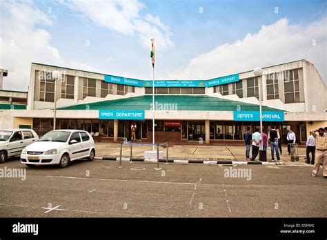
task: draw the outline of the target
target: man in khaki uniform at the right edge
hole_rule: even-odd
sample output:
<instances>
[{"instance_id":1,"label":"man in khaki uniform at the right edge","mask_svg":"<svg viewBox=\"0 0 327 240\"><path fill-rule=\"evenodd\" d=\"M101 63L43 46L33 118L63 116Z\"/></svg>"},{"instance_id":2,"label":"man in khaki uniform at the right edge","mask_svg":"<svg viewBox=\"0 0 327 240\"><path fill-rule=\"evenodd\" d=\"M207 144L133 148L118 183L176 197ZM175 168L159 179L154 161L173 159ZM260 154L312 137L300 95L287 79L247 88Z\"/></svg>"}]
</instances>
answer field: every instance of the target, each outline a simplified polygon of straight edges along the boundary
<instances>
[{"instance_id":1,"label":"man in khaki uniform at the right edge","mask_svg":"<svg viewBox=\"0 0 327 240\"><path fill-rule=\"evenodd\" d=\"M327 178L327 141L326 136L324 135L324 128L319 128L313 133L316 143L316 152L315 152L315 165L313 170L313 177L317 177L319 172L320 164L322 161L322 174Z\"/></svg>"}]
</instances>

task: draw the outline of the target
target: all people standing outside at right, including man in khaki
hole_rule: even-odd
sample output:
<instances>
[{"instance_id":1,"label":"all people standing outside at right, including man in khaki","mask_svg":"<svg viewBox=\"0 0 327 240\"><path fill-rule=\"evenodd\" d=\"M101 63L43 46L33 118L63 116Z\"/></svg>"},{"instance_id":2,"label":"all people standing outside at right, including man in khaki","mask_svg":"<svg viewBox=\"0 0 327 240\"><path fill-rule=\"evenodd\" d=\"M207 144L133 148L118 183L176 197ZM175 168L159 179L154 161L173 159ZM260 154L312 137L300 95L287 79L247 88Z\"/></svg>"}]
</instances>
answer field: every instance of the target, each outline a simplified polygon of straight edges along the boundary
<instances>
[{"instance_id":1,"label":"all people standing outside at right, including man in khaki","mask_svg":"<svg viewBox=\"0 0 327 240\"><path fill-rule=\"evenodd\" d=\"M281 149L281 132L276 126L273 126L273 129L268 132L268 135L265 131L261 133L259 132L259 128L255 129L255 132L251 134L250 127L246 128L245 133L245 143L246 143L246 160L247 161L255 161L259 154L259 146L262 142L264 151L268 148L268 142L270 142L270 150L271 150L271 160L275 161L275 152L277 161L280 161L280 154L282 152ZM327 127L319 128L319 130L310 131L310 137L308 137L308 141L306 142L306 163L313 164L313 177L317 176L320 165L323 165L323 174L324 177L327 178ZM288 143L288 154L291 154L291 144L295 143L296 135L293 132L293 129L290 128L286 137ZM252 144L251 144L252 141ZM250 146L252 145L252 157L250 158ZM311 161L310 161L310 153L311 153Z\"/></svg>"}]
</instances>

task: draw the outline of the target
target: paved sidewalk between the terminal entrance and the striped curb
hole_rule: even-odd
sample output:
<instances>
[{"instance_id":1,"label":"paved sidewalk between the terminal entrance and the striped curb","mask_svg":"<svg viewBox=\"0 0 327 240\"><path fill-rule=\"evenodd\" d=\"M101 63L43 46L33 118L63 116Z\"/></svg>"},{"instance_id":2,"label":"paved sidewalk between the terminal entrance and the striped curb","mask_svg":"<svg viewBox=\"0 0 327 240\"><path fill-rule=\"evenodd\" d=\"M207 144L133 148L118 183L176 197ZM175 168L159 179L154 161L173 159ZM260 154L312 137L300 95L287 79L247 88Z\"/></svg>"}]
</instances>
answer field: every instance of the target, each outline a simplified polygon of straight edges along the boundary
<instances>
[{"instance_id":1,"label":"paved sidewalk between the terminal entrance and the striped curb","mask_svg":"<svg viewBox=\"0 0 327 240\"><path fill-rule=\"evenodd\" d=\"M120 144L119 143L95 143L97 157L119 157ZM157 150L157 147L155 148ZM143 158L143 152L152 150L152 146L132 146L132 158ZM166 146L160 146L159 150L164 151L164 158L166 159ZM180 146L172 145L168 149L169 159L181 160L232 160L232 161L246 161L245 146ZM251 152L250 152L251 155ZM290 161L287 148L283 148L281 156L281 163L288 165L308 165L304 161L306 156L306 148L299 148L299 161ZM123 145L122 157L130 157L130 146ZM270 161L270 147L267 150L267 160ZM276 160L276 157L275 157ZM258 157L256 161L259 161Z\"/></svg>"}]
</instances>

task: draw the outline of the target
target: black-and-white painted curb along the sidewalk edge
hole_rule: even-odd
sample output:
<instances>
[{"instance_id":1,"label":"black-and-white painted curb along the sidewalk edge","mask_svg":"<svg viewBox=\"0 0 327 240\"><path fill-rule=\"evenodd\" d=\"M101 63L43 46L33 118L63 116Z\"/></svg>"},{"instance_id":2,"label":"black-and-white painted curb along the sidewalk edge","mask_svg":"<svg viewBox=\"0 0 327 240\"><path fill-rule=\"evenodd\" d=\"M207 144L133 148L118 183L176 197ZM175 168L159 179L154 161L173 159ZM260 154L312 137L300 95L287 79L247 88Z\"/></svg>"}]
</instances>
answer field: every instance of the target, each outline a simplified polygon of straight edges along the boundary
<instances>
[{"instance_id":1,"label":"black-and-white painted curb along the sidewalk edge","mask_svg":"<svg viewBox=\"0 0 327 240\"><path fill-rule=\"evenodd\" d=\"M119 157L95 157L95 160L109 160L119 161ZM130 158L121 158L121 161L130 161ZM157 159L142 159L135 158L132 161L143 161L145 163L157 163ZM166 163L166 159L159 159L159 163ZM281 165L280 162L275 161L232 161L232 160L183 160L183 159L169 159L168 163L200 163L200 164L223 164L223 165Z\"/></svg>"}]
</instances>

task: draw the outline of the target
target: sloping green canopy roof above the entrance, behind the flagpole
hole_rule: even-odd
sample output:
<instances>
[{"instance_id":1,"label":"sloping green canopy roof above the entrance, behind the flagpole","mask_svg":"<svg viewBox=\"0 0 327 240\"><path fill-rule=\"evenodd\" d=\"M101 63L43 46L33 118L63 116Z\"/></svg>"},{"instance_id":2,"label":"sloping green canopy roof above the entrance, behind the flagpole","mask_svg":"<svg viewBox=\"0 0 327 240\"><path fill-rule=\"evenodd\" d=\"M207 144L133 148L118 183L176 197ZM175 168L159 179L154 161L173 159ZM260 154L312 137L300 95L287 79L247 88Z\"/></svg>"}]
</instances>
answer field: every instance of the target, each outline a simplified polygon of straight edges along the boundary
<instances>
[{"instance_id":1,"label":"sloping green canopy roof above the entrance, behind the flagpole","mask_svg":"<svg viewBox=\"0 0 327 240\"><path fill-rule=\"evenodd\" d=\"M189 111L259 111L259 105L209 97L206 95L156 95L155 103L177 104L177 110ZM151 110L152 95L84 103L60 110ZM284 111L262 106L263 111Z\"/></svg>"}]
</instances>

